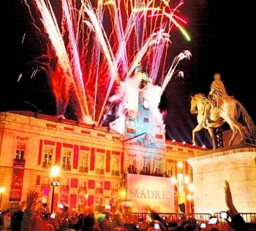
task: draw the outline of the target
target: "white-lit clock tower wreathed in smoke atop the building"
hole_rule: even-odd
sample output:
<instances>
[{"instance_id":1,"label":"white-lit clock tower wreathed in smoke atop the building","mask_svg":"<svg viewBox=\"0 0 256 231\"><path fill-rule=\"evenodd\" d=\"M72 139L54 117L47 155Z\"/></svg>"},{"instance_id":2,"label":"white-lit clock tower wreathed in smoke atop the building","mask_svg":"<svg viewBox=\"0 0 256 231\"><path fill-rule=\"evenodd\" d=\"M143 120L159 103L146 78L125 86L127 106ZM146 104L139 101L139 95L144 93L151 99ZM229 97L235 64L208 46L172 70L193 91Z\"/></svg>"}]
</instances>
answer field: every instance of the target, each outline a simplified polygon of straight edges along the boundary
<instances>
[{"instance_id":1,"label":"white-lit clock tower wreathed in smoke atop the building","mask_svg":"<svg viewBox=\"0 0 256 231\"><path fill-rule=\"evenodd\" d=\"M135 138L143 134L149 134L157 141L165 144L165 124L156 119L157 104L152 100L152 93L148 85L152 86L151 79L141 67L135 71L135 77L140 77L138 95L132 95L137 105L126 113L110 122L110 128L124 135L124 139ZM148 92L149 91L149 92Z\"/></svg>"}]
</instances>

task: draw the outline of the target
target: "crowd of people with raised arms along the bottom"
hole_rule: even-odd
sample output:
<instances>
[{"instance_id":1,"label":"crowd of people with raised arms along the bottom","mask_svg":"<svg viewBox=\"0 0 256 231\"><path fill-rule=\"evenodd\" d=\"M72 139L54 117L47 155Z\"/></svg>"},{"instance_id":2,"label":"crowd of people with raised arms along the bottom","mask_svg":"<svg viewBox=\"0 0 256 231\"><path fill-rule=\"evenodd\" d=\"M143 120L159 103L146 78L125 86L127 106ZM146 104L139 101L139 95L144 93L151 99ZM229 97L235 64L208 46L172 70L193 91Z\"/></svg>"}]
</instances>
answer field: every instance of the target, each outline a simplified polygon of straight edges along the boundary
<instances>
[{"instance_id":1,"label":"crowd of people with raised arms along the bottom","mask_svg":"<svg viewBox=\"0 0 256 231\"><path fill-rule=\"evenodd\" d=\"M2 211L0 230L12 231L256 231L255 223L246 223L238 213L230 192L230 186L225 181L225 201L227 214L225 228L215 222L201 223L195 219L175 220L171 217L159 216L152 212L145 217L132 214L110 214L108 212L94 213L85 211L77 214L69 211L67 206L51 214L48 208L36 206L38 193L31 191L26 202L20 203L20 209L10 214ZM22 208L26 204L26 209ZM214 217L213 217L214 219ZM1 224L2 223L2 224ZM204 226L203 226L204 225Z\"/></svg>"}]
</instances>

